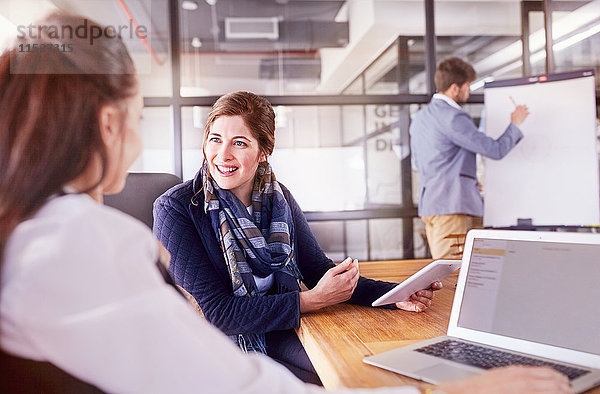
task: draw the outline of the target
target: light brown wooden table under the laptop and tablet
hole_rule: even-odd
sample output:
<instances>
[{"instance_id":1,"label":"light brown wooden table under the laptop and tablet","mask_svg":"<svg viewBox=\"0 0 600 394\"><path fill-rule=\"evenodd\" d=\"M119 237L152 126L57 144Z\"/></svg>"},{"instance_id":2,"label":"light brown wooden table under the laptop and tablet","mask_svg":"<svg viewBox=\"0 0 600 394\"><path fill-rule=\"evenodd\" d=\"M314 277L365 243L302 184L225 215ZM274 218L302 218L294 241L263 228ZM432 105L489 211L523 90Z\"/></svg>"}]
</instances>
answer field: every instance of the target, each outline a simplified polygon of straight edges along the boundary
<instances>
[{"instance_id":1,"label":"light brown wooden table under the laptop and tablet","mask_svg":"<svg viewBox=\"0 0 600 394\"><path fill-rule=\"evenodd\" d=\"M360 263L361 275L401 282L431 260ZM323 385L382 387L417 384L417 380L364 364L363 357L416 341L445 335L458 273L443 281L432 306L422 313L340 304L302 316L298 337ZM589 391L600 393L600 388Z\"/></svg>"}]
</instances>

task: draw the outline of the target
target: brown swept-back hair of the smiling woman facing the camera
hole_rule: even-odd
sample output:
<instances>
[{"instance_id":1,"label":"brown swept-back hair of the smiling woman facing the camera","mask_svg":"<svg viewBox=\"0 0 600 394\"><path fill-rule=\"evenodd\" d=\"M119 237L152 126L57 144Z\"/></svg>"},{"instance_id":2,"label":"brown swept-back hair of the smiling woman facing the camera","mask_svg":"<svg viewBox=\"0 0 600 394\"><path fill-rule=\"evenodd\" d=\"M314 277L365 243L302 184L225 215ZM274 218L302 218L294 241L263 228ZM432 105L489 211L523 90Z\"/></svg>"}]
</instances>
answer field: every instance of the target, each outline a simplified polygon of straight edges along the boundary
<instances>
[{"instance_id":1,"label":"brown swept-back hair of the smiling woman facing the camera","mask_svg":"<svg viewBox=\"0 0 600 394\"><path fill-rule=\"evenodd\" d=\"M220 116L241 116L252 136L258 141L260 152L269 156L275 147L275 112L269 101L250 92L228 93L213 104L204 126L204 145L210 127ZM203 149L204 150L204 149Z\"/></svg>"}]
</instances>

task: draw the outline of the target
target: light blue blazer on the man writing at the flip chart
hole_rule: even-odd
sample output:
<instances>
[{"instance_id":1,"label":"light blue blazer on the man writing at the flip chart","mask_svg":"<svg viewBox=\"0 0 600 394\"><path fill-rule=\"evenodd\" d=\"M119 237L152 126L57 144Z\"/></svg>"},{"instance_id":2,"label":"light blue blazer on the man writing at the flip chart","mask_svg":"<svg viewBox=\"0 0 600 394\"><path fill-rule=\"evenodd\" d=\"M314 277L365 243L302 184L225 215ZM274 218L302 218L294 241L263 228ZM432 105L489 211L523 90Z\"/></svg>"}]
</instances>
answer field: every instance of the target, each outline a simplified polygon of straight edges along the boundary
<instances>
[{"instance_id":1,"label":"light blue blazer on the man writing at the flip chart","mask_svg":"<svg viewBox=\"0 0 600 394\"><path fill-rule=\"evenodd\" d=\"M490 138L477 130L468 113L434 96L412 120L410 138L421 183L419 216L483 216L476 154L499 160L523 133L511 123L498 139Z\"/></svg>"}]
</instances>

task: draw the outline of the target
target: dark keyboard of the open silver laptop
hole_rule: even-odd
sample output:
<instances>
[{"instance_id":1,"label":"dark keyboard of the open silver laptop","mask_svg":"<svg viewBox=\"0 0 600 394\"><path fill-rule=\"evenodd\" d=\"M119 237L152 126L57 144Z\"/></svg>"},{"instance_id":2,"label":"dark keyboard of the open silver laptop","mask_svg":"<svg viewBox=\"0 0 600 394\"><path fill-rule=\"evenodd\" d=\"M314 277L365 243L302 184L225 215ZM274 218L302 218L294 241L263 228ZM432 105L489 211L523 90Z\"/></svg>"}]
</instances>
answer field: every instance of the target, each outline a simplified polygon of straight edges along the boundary
<instances>
[{"instance_id":1,"label":"dark keyboard of the open silver laptop","mask_svg":"<svg viewBox=\"0 0 600 394\"><path fill-rule=\"evenodd\" d=\"M570 380L590 372L585 369L568 367L562 364L555 364L536 358L522 356L520 354L504 352L501 350L495 350L465 342L453 341L451 339L424 346L415 349L415 351L483 369L505 367L507 365L527 365L535 367L547 366L554 368L564 375L567 375Z\"/></svg>"}]
</instances>

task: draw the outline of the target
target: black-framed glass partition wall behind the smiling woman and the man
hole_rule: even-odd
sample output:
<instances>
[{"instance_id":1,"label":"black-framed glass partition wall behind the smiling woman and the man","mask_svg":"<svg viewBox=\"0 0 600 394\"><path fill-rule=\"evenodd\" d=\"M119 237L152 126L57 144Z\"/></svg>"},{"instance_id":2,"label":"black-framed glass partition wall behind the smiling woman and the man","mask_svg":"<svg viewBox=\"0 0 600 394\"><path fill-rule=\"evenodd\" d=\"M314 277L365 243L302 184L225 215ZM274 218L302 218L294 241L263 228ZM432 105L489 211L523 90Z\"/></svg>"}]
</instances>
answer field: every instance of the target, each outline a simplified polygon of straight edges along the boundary
<instances>
[{"instance_id":1,"label":"black-framed glass partition wall behind the smiling woman and the man","mask_svg":"<svg viewBox=\"0 0 600 394\"><path fill-rule=\"evenodd\" d=\"M147 42L127 43L146 105L134 171L190 179L216 98L266 96L277 115L269 160L334 260L429 255L408 127L434 93L437 61L474 65L464 108L476 122L486 81L600 64L600 0L0 3L0 50L32 9L147 25Z\"/></svg>"}]
</instances>

